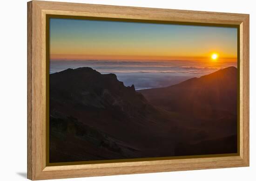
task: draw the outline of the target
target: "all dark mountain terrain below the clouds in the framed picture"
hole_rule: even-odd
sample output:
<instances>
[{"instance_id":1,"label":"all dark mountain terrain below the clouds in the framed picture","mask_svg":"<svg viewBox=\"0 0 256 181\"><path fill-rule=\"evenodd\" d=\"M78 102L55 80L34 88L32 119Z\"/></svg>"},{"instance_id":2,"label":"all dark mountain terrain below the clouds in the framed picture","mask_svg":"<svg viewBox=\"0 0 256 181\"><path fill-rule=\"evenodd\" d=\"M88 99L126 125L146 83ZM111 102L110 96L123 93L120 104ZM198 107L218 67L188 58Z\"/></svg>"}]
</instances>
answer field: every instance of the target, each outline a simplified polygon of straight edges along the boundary
<instances>
[{"instance_id":1,"label":"all dark mountain terrain below the clouds in the framed picture","mask_svg":"<svg viewBox=\"0 0 256 181\"><path fill-rule=\"evenodd\" d=\"M235 67L165 88L91 68L50 75L50 162L236 153Z\"/></svg>"}]
</instances>

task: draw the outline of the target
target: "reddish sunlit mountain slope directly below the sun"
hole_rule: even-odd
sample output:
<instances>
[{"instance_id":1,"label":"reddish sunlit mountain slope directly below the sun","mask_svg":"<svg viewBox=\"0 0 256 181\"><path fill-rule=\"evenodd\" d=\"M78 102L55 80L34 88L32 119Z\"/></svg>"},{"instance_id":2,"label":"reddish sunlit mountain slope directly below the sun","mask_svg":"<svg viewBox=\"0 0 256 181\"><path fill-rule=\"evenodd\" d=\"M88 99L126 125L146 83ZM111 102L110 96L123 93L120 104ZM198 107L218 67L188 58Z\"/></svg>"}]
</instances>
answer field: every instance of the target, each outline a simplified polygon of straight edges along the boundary
<instances>
[{"instance_id":1,"label":"reddish sunlit mountain slope directly below the sun","mask_svg":"<svg viewBox=\"0 0 256 181\"><path fill-rule=\"evenodd\" d=\"M237 112L237 69L229 67L179 84L138 91L154 106L197 117Z\"/></svg>"}]
</instances>

